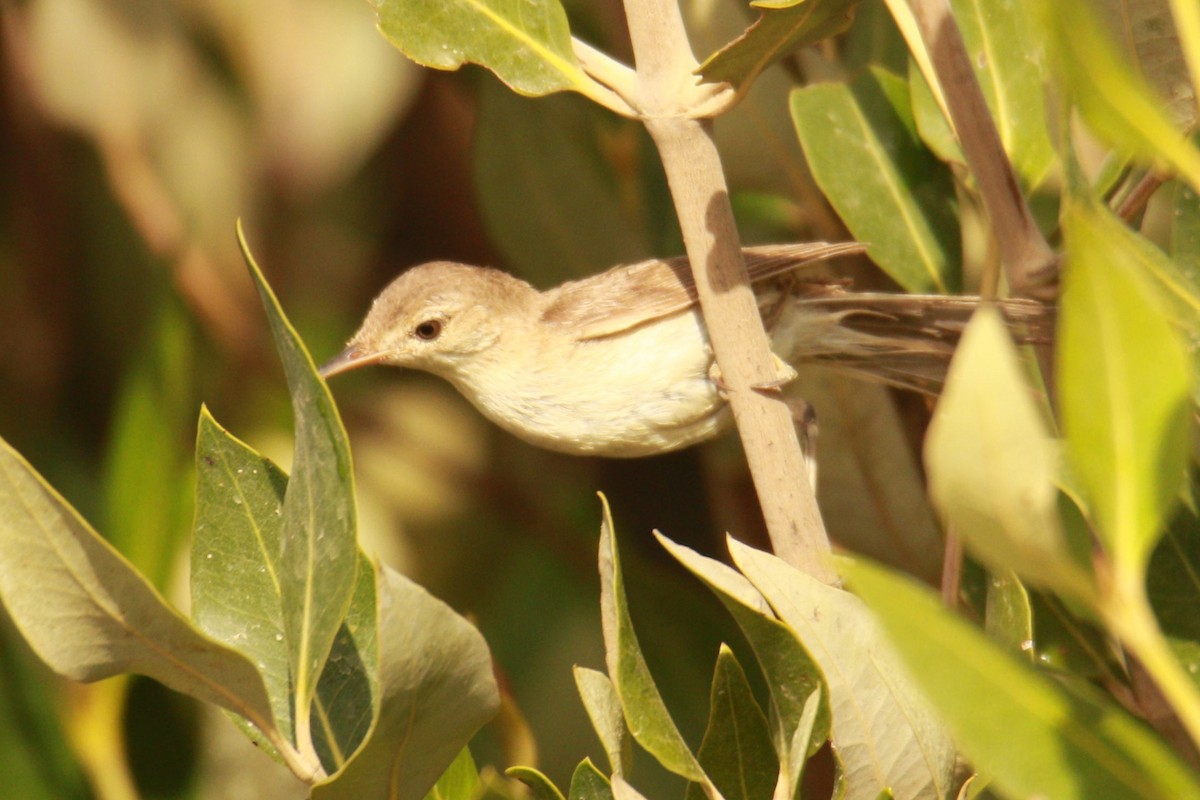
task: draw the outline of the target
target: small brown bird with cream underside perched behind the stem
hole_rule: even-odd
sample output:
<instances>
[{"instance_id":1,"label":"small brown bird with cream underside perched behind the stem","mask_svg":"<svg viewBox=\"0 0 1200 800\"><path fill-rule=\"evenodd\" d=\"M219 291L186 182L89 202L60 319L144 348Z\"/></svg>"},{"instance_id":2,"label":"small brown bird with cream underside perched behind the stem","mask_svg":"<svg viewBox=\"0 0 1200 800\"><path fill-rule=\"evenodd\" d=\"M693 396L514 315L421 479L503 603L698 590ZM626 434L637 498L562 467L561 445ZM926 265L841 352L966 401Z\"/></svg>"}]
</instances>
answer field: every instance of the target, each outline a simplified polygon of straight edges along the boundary
<instances>
[{"instance_id":1,"label":"small brown bird with cream underside perched behind the stem","mask_svg":"<svg viewBox=\"0 0 1200 800\"><path fill-rule=\"evenodd\" d=\"M854 242L745 249L772 348L936 393L978 297L856 294L808 275ZM803 275L798 275L802 267ZM1052 312L1000 303L1022 341L1049 336ZM652 259L539 291L493 269L415 266L383 290L325 378L370 363L445 378L486 417L542 447L648 456L703 441L728 425L686 258Z\"/></svg>"}]
</instances>

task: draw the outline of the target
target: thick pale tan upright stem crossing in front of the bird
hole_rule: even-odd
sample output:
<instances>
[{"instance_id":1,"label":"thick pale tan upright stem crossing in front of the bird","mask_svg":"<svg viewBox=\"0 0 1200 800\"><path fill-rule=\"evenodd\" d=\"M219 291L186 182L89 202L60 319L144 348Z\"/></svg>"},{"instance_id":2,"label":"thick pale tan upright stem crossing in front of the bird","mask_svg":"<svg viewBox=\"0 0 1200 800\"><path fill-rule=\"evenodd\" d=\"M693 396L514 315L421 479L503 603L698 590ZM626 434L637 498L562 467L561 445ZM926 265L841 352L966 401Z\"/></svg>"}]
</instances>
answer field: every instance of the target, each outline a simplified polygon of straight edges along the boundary
<instances>
[{"instance_id":1,"label":"thick pale tan upright stem crossing in front of the bird","mask_svg":"<svg viewBox=\"0 0 1200 800\"><path fill-rule=\"evenodd\" d=\"M696 60L676 0L625 0L637 61L638 106L662 157L696 278L700 306L775 553L833 583L829 539L817 511L775 361L742 259L712 125L686 116Z\"/></svg>"}]
</instances>

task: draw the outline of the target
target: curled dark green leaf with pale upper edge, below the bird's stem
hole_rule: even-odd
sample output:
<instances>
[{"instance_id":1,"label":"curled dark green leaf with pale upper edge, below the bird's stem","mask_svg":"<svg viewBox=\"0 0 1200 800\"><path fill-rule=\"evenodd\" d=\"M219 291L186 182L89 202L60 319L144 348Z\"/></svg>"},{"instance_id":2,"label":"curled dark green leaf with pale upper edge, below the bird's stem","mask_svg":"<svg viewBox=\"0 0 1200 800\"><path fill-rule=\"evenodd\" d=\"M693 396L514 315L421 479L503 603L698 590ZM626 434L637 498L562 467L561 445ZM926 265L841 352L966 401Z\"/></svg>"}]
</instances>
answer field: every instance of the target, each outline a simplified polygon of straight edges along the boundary
<instances>
[{"instance_id":1,"label":"curled dark green leaf with pale upper edge, below the bird's stem","mask_svg":"<svg viewBox=\"0 0 1200 800\"><path fill-rule=\"evenodd\" d=\"M804 760L829 738L829 697L821 669L796 631L775 618L763 596L742 573L676 545L662 534L655 536L668 553L713 590L750 642L770 690L775 752L779 760L787 764L793 788L790 796L796 796ZM812 697L816 700L810 708Z\"/></svg>"}]
</instances>

